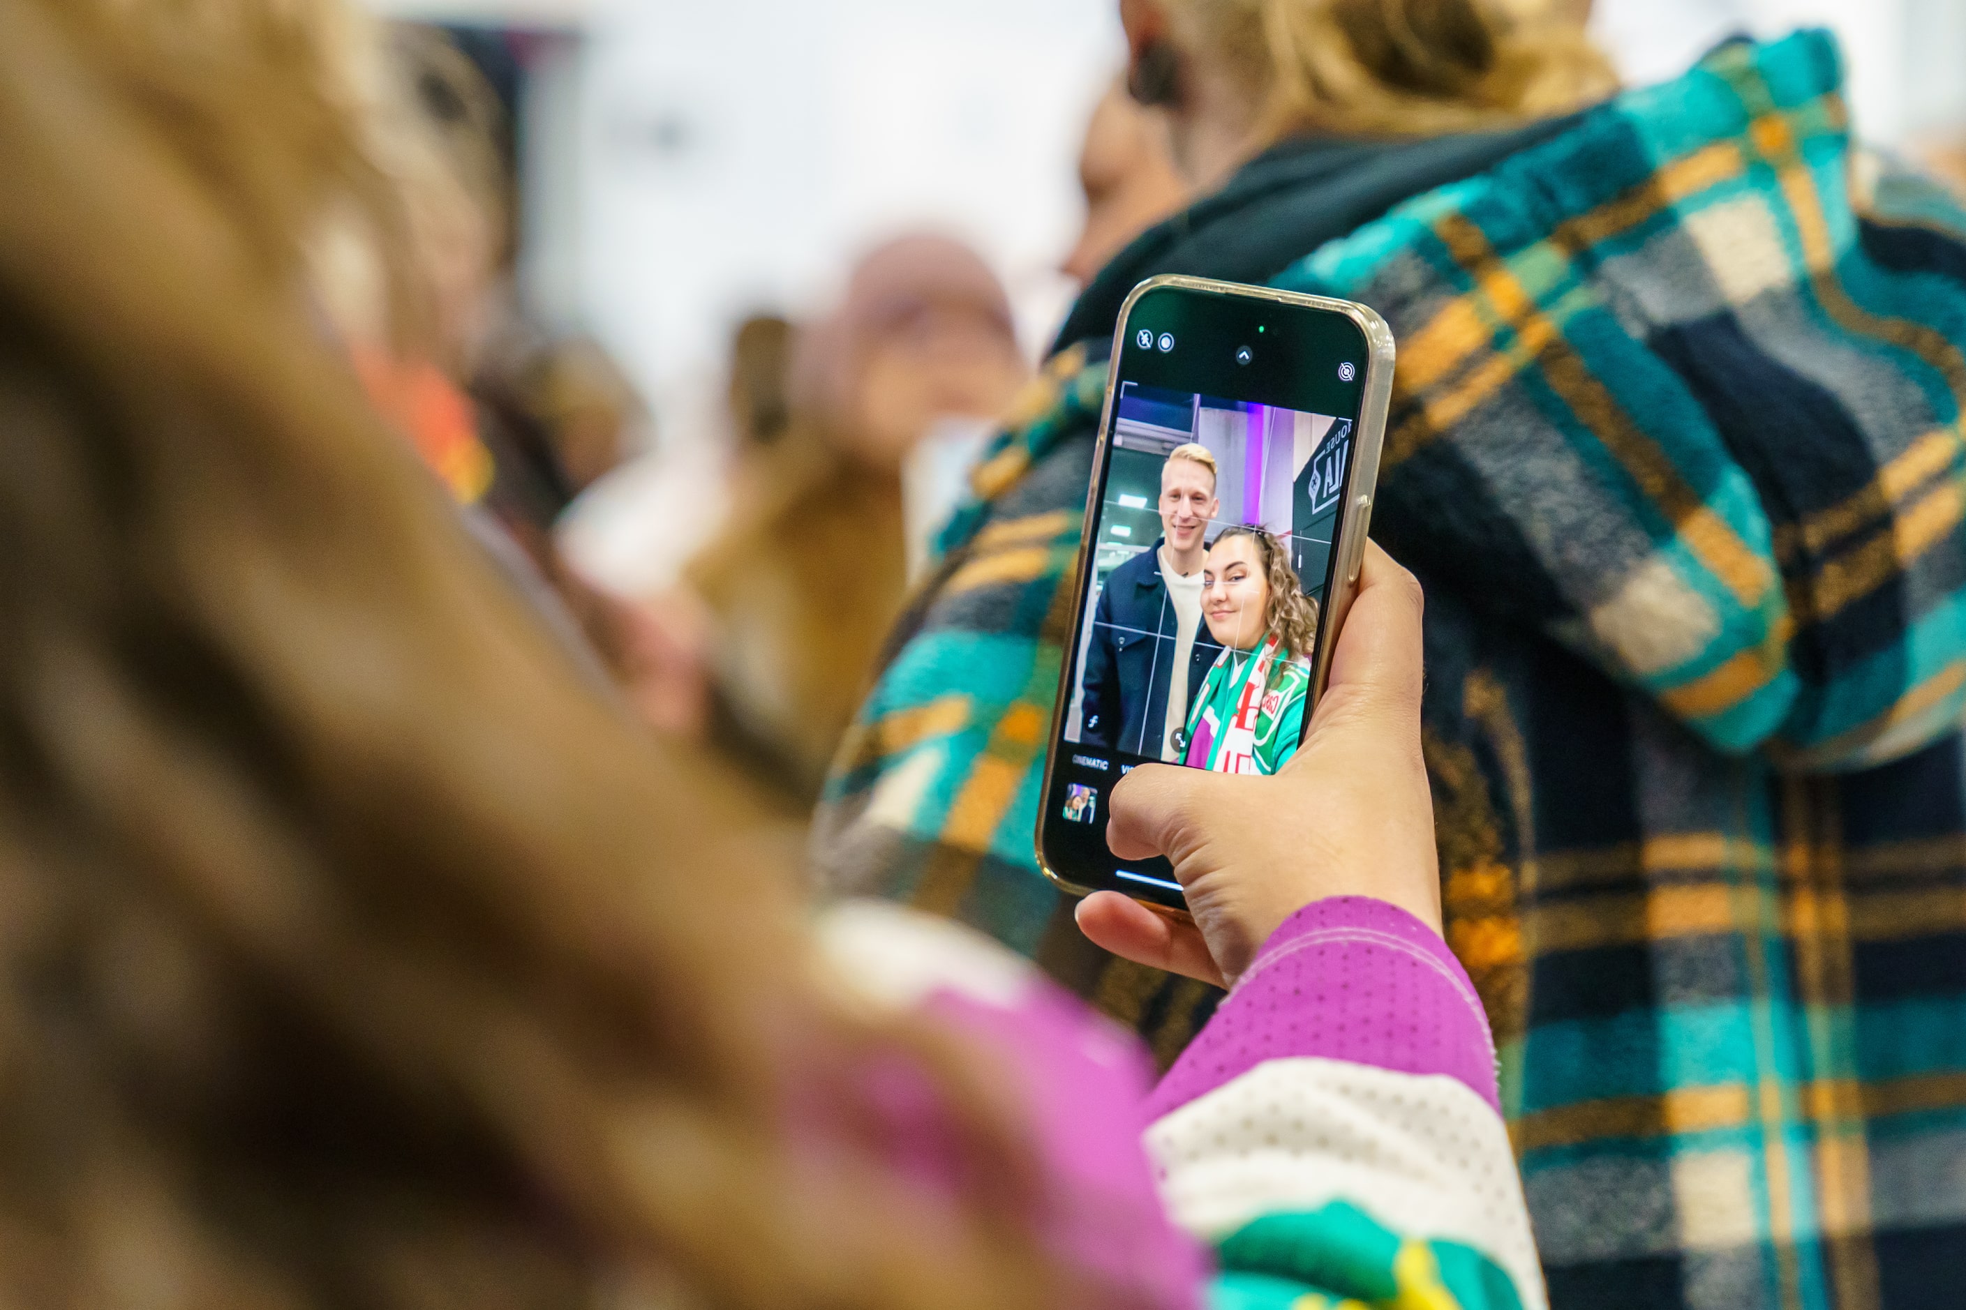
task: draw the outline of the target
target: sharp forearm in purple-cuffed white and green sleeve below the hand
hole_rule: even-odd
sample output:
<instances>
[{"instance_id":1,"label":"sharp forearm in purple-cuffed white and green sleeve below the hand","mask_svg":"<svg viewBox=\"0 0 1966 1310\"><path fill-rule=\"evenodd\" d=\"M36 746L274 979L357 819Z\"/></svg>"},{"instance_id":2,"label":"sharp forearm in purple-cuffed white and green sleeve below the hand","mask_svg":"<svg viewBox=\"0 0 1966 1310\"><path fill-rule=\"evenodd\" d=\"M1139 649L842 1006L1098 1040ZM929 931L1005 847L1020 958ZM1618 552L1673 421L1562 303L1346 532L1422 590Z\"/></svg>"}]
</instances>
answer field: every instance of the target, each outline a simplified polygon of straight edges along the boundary
<instances>
[{"instance_id":1,"label":"sharp forearm in purple-cuffed white and green sleeve below the hand","mask_svg":"<svg viewBox=\"0 0 1966 1310\"><path fill-rule=\"evenodd\" d=\"M1443 1306L1508 1304L1478 1298L1498 1281L1543 1304L1480 1000L1445 943L1384 901L1292 915L1150 1114L1162 1194L1231 1288L1390 1300L1433 1277Z\"/></svg>"}]
</instances>

